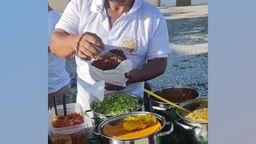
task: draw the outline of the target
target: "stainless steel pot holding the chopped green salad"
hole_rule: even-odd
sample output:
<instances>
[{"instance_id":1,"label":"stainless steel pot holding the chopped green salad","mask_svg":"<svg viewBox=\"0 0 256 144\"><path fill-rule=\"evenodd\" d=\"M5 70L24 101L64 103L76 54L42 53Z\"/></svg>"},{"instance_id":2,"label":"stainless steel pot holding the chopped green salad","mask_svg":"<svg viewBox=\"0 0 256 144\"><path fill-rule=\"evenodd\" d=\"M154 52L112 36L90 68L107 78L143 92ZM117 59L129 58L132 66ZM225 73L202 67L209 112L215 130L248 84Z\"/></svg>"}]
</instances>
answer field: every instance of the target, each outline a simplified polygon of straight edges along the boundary
<instances>
[{"instance_id":1,"label":"stainless steel pot holding the chopped green salad","mask_svg":"<svg viewBox=\"0 0 256 144\"><path fill-rule=\"evenodd\" d=\"M115 93L115 94L126 94L126 93ZM113 95L113 94L106 94L105 96L109 96L109 95ZM140 102L140 106L138 107L137 110L135 111L141 111L142 110L142 106L144 104L143 98L140 98L134 94L127 94L130 97L133 98L137 98ZM99 114L98 112L94 111L94 104L95 102L98 102L99 100L96 98L94 99L94 101L90 102L90 110L86 110L85 111L85 115L87 118L90 118L92 120L94 120L95 125L98 125L99 123L103 122L104 120L106 120L107 118L111 118L113 117L113 115L107 115L107 114ZM92 112L94 117L90 117L90 115L88 113Z\"/></svg>"}]
</instances>

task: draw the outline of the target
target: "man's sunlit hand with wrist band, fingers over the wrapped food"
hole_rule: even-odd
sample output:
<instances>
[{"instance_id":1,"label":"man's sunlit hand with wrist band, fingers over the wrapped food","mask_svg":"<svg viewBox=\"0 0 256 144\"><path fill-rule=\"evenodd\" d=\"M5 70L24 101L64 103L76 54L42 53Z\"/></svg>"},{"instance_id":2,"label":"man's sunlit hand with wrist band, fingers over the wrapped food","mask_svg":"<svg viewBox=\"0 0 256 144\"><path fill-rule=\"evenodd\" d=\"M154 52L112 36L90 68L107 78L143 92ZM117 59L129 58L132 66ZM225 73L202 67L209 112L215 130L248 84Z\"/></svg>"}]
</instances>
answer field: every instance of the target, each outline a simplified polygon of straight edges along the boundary
<instances>
[{"instance_id":1,"label":"man's sunlit hand with wrist band, fingers over the wrapped food","mask_svg":"<svg viewBox=\"0 0 256 144\"><path fill-rule=\"evenodd\" d=\"M75 48L77 56L86 61L98 59L101 50L104 50L102 39L98 35L89 32L82 34Z\"/></svg>"}]
</instances>

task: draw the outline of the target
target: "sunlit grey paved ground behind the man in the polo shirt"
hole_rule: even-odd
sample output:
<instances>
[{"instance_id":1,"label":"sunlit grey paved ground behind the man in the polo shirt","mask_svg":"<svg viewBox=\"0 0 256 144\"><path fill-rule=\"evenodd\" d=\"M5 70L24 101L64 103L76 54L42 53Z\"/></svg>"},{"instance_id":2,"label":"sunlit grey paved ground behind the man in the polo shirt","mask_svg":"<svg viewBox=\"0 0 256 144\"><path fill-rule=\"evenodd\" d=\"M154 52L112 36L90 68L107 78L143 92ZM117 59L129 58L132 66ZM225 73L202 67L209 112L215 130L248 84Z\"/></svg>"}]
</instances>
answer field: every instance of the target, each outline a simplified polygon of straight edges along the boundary
<instances>
[{"instance_id":1,"label":"sunlit grey paved ground behind the man in the polo shirt","mask_svg":"<svg viewBox=\"0 0 256 144\"><path fill-rule=\"evenodd\" d=\"M166 17L172 54L165 74L150 81L155 88L190 85L208 95L208 6L159 7ZM75 82L74 59L67 69ZM74 93L76 91L74 87Z\"/></svg>"}]
</instances>

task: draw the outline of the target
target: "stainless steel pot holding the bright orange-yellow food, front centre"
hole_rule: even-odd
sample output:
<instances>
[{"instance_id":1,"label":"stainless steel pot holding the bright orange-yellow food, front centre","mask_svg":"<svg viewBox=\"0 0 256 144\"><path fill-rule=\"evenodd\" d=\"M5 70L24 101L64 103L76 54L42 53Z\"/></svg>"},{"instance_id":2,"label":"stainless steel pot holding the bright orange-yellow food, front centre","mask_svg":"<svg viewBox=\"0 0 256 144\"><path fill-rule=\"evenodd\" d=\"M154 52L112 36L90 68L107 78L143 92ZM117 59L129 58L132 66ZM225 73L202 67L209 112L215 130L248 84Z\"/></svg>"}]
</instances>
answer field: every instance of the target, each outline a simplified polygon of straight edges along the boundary
<instances>
[{"instance_id":1,"label":"stainless steel pot holding the bright orange-yellow food, front centre","mask_svg":"<svg viewBox=\"0 0 256 144\"><path fill-rule=\"evenodd\" d=\"M129 117L129 116L138 116L138 115L145 115L145 114L152 114L154 115L159 122L161 122L162 124L162 128L160 130L158 130L157 132L155 132L154 134L151 134L150 136L147 136L145 138L138 138L138 139L121 139L121 138L110 138L108 136L106 136L105 134L102 133L102 129L104 126L106 125L114 125L117 124L118 122L121 122L122 120L124 120L125 118ZM162 132L162 129L164 128L164 126L170 126L170 129ZM104 122L102 122L101 124L99 124L98 126L98 134L102 136L102 140L105 143L110 143L110 144L160 144L161 143L161 137L171 134L172 131L174 130L174 126L171 122L166 122L165 118L163 118L161 115L159 114L154 114L154 113L150 113L150 112L132 112L132 113L128 113L128 114L122 114L116 117L112 117L112 118L108 118L106 119ZM94 132L95 134L95 132Z\"/></svg>"}]
</instances>

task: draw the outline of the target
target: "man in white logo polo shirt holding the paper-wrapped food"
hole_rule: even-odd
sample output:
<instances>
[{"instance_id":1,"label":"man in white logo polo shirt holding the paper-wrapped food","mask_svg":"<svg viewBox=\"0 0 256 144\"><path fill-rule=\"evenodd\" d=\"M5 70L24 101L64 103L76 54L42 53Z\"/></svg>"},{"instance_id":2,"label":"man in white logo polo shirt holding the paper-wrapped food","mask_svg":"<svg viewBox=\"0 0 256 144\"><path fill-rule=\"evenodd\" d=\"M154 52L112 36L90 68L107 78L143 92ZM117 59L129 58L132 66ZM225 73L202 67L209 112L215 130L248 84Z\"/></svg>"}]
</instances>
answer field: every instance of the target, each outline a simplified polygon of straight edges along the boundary
<instances>
[{"instance_id":1,"label":"man in white logo polo shirt holding the paper-wrapped food","mask_svg":"<svg viewBox=\"0 0 256 144\"><path fill-rule=\"evenodd\" d=\"M125 51L133 70L126 73L127 86L106 86L106 94L117 91L143 96L144 82L166 70L170 54L168 30L162 13L143 0L71 0L56 25L51 51L61 58L75 54L78 74L77 102L90 109L94 99L88 90L90 60L98 58L106 45Z\"/></svg>"}]
</instances>

